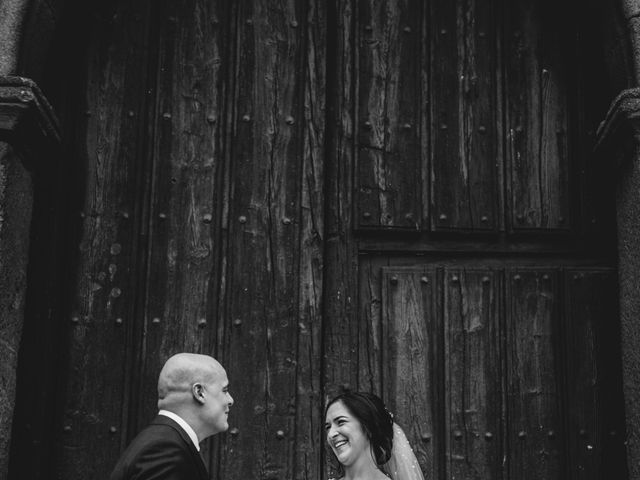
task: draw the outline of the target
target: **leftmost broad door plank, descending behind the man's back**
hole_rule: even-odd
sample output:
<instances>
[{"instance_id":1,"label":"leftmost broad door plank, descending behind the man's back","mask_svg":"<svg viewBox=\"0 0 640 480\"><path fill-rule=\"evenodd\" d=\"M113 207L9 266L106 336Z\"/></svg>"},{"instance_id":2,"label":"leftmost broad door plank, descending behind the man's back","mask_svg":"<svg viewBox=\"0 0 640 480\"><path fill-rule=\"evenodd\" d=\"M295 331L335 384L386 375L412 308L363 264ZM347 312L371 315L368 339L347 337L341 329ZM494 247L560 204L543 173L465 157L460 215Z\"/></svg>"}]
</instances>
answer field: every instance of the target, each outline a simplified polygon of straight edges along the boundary
<instances>
[{"instance_id":1,"label":"leftmost broad door plank, descending behind the man's back","mask_svg":"<svg viewBox=\"0 0 640 480\"><path fill-rule=\"evenodd\" d=\"M62 428L56 432L60 478L104 476L133 435L128 399L136 368L135 271L142 263L145 7L105 6L93 12L89 29L86 103L77 112L80 244L69 276L64 411L52 422Z\"/></svg>"}]
</instances>

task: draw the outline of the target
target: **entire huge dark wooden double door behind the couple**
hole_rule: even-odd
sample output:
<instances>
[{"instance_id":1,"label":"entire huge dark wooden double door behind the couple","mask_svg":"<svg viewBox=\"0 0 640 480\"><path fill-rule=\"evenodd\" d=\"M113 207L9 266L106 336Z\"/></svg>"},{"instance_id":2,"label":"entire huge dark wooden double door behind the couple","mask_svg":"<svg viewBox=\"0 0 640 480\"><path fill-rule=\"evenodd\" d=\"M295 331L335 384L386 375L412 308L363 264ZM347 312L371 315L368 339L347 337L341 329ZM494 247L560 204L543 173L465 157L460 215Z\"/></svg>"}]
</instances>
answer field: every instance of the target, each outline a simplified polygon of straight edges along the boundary
<instances>
[{"instance_id":1,"label":"entire huge dark wooden double door behind the couple","mask_svg":"<svg viewBox=\"0 0 640 480\"><path fill-rule=\"evenodd\" d=\"M625 478L588 5L100 3L61 34L66 296L13 478L107 478L185 350L236 400L212 478L324 478L348 388L429 480Z\"/></svg>"}]
</instances>

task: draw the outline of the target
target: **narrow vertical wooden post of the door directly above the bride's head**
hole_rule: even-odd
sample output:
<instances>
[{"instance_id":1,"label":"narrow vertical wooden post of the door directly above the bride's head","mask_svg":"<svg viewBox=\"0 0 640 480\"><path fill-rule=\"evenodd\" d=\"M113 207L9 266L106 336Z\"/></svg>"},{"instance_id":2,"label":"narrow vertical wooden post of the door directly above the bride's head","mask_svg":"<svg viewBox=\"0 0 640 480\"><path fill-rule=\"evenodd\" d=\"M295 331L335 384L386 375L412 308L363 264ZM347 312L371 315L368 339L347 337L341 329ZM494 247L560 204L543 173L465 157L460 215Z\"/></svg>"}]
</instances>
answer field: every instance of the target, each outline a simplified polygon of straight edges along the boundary
<instances>
[{"instance_id":1,"label":"narrow vertical wooden post of the door directly above the bride's head","mask_svg":"<svg viewBox=\"0 0 640 480\"><path fill-rule=\"evenodd\" d=\"M327 22L327 158L324 252L324 330L322 336L325 400L344 387L357 388L358 252L354 239L355 149L355 2L329 2ZM357 343L357 342L356 342Z\"/></svg>"}]
</instances>

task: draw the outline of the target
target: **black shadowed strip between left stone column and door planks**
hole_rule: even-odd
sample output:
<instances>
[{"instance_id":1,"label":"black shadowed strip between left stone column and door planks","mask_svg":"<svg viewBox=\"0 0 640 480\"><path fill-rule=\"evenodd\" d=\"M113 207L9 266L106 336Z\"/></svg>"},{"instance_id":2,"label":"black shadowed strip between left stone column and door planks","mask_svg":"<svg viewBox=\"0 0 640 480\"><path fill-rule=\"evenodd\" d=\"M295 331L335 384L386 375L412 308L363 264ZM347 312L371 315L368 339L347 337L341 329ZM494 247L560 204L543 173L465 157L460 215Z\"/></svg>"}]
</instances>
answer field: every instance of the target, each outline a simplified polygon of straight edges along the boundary
<instances>
[{"instance_id":1,"label":"black shadowed strip between left stone column and door planks","mask_svg":"<svg viewBox=\"0 0 640 480\"><path fill-rule=\"evenodd\" d=\"M24 37L21 74L36 80L62 130L59 149L34 162L25 318L18 357L9 479L51 478L60 437L68 433L65 403L69 334L77 318L70 301L79 259L83 165L77 118L84 115L77 92L85 84L85 39L92 28L91 2L58 2L60 11L34 2ZM60 19L52 15L59 15Z\"/></svg>"}]
</instances>

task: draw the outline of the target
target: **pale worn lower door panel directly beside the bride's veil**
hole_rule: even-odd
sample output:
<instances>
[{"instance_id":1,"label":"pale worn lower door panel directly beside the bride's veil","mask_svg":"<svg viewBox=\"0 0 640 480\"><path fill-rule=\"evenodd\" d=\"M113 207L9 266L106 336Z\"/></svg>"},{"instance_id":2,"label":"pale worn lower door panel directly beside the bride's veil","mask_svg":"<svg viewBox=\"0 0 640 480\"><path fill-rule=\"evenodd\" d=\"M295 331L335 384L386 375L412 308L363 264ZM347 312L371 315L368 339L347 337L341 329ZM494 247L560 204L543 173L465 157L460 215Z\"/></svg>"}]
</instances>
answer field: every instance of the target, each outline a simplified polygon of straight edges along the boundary
<instances>
[{"instance_id":1,"label":"pale worn lower door panel directly beside the bride's veil","mask_svg":"<svg viewBox=\"0 0 640 480\"><path fill-rule=\"evenodd\" d=\"M432 268L383 268L383 385L427 478L440 478L438 422L442 330Z\"/></svg>"}]
</instances>

